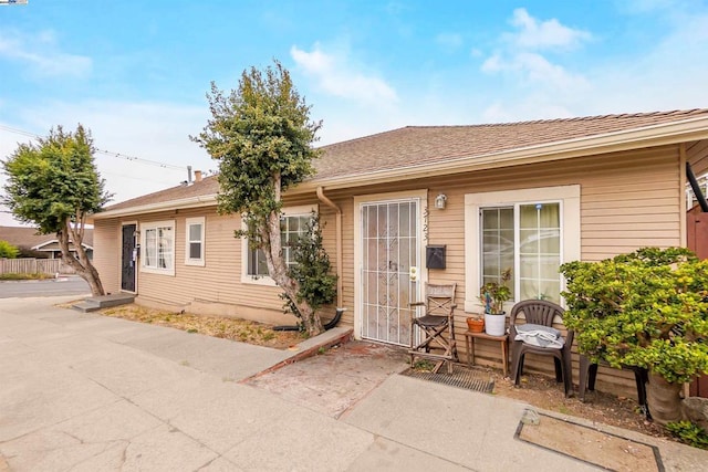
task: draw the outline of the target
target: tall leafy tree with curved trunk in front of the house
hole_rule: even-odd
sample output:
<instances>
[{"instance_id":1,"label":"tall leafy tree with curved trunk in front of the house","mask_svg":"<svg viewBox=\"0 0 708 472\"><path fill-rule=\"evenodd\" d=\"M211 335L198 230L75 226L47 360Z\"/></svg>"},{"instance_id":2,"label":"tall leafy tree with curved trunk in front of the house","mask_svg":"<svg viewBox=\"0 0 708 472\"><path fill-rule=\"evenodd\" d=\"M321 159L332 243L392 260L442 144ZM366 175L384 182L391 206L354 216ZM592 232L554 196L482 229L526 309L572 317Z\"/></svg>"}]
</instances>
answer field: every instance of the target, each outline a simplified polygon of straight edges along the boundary
<instances>
[{"instance_id":1,"label":"tall leafy tree with curved trunk in front of the house","mask_svg":"<svg viewBox=\"0 0 708 472\"><path fill-rule=\"evenodd\" d=\"M252 249L266 255L269 275L302 316L309 335L323 331L312 305L299 296L283 258L280 235L282 193L314 174L312 147L321 123L310 120L310 106L280 62L266 71L243 71L238 90L228 95L211 83L207 94L212 118L191 139L219 162L219 212L240 213Z\"/></svg>"}]
</instances>

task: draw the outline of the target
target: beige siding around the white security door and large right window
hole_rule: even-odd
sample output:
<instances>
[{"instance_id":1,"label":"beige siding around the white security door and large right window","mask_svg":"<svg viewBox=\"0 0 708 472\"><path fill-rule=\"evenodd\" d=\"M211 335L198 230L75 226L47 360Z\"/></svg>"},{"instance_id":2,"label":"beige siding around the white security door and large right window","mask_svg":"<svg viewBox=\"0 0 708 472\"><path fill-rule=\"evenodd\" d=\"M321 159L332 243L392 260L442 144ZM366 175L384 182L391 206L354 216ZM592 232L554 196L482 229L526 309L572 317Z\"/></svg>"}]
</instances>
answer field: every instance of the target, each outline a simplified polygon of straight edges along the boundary
<instances>
[{"instance_id":1,"label":"beige siding around the white security door and large right window","mask_svg":"<svg viewBox=\"0 0 708 472\"><path fill-rule=\"evenodd\" d=\"M679 245L681 225L679 208L680 190L678 146L665 146L632 153L585 157L561 162L523 166L518 168L460 174L426 180L428 188L427 241L424 244L447 245L447 269L428 271L430 282L457 282L456 333L462 356L464 336L467 329L465 306L465 214L466 193L514 190L551 186L581 186L581 253L583 260L596 261L644 245ZM420 188L420 182L393 183L386 191L405 191ZM381 193L381 186L357 189L357 195ZM434 208L438 193L447 196L444 210ZM334 192L333 192L334 193ZM337 192L339 196L339 192ZM353 196L344 209L344 234L353 234ZM354 306L353 279L354 244L352 238L344 241L345 303ZM472 295L475 296L475 295ZM353 323L354 313L347 313L346 323ZM498 364L497 343L477 343L477 358L481 363ZM532 356L529 368L550 371L552 365L537 363ZM575 363L575 371L577 369ZM598 388L633 388L633 377L617 370L605 369L598 378Z\"/></svg>"}]
</instances>

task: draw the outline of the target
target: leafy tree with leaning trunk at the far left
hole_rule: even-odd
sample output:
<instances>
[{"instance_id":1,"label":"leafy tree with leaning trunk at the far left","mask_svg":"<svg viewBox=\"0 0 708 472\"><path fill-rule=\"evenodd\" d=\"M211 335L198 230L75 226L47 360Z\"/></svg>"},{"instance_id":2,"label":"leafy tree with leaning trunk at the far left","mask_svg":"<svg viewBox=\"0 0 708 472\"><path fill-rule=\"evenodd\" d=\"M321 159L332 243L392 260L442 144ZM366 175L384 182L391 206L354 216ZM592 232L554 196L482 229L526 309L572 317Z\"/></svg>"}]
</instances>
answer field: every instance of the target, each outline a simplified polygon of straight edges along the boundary
<instances>
[{"instance_id":1,"label":"leafy tree with leaning trunk at the far left","mask_svg":"<svg viewBox=\"0 0 708 472\"><path fill-rule=\"evenodd\" d=\"M62 261L88 282L93 295L103 295L98 272L82 245L86 217L101 211L111 198L93 153L91 132L82 125L74 133L58 126L37 144L19 145L2 162L8 176L2 202L41 234L56 234ZM69 251L70 241L77 256Z\"/></svg>"}]
</instances>

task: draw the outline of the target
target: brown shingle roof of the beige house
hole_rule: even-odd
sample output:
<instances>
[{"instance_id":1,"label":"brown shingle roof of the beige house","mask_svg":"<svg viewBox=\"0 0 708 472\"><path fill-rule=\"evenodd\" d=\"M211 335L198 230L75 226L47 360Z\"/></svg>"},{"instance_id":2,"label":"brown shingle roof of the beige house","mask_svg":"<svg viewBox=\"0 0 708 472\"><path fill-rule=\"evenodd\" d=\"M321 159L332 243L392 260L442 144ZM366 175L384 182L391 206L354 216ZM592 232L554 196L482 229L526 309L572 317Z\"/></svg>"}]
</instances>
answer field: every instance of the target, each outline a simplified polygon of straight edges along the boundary
<instances>
[{"instance_id":1,"label":"brown shingle roof of the beige house","mask_svg":"<svg viewBox=\"0 0 708 472\"><path fill-rule=\"evenodd\" d=\"M708 117L708 108L688 111L602 115L470 126L407 126L372 136L323 146L315 160L312 180L361 176L402 166L433 165L458 157L485 156L530 146L590 138L618 132L650 128L691 118ZM216 177L142 196L106 210L216 195Z\"/></svg>"}]
</instances>

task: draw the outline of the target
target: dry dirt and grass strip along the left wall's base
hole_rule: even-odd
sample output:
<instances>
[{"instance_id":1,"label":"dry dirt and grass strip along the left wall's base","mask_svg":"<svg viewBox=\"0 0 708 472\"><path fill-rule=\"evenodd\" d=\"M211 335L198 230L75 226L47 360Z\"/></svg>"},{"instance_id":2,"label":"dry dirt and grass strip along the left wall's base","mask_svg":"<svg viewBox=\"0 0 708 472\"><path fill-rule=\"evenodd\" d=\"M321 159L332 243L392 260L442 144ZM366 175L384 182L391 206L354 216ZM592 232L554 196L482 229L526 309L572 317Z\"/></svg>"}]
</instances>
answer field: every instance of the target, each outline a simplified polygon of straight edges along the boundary
<instances>
[{"instance_id":1,"label":"dry dirt and grass strip along the left wall's base","mask_svg":"<svg viewBox=\"0 0 708 472\"><path fill-rule=\"evenodd\" d=\"M299 332L277 332L273 331L271 325L262 323L220 316L174 313L146 308L136 304L104 308L96 313L140 323L170 326L188 333L199 333L275 349L288 349L304 340L303 335Z\"/></svg>"}]
</instances>

